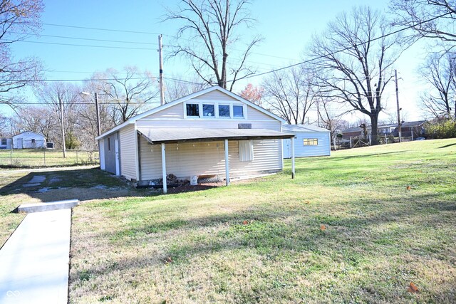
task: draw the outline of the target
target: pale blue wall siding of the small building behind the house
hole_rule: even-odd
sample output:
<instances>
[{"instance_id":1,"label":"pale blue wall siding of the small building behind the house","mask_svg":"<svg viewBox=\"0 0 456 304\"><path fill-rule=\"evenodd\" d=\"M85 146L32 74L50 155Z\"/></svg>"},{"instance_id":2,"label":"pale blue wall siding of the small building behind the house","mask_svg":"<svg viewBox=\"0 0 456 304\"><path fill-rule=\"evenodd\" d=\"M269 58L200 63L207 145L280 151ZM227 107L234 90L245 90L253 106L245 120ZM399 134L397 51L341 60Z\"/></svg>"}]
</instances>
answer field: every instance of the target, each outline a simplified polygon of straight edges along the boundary
<instances>
[{"instance_id":1,"label":"pale blue wall siding of the small building behind the house","mask_svg":"<svg viewBox=\"0 0 456 304\"><path fill-rule=\"evenodd\" d=\"M304 146L304 138L316 138L317 146ZM291 158L291 140L284 141L284 158ZM294 139L295 157L328 156L331 154L329 132L300 132Z\"/></svg>"}]
</instances>

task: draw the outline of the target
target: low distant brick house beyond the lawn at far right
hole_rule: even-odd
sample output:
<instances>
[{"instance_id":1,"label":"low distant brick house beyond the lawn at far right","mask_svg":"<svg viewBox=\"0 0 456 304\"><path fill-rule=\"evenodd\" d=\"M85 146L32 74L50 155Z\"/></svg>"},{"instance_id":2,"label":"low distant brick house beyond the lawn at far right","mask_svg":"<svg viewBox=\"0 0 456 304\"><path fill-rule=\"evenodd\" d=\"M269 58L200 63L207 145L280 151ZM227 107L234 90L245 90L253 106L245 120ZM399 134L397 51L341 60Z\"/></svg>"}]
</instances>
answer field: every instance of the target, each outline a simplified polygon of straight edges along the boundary
<instances>
[{"instance_id":1,"label":"low distant brick house beyond the lawn at far right","mask_svg":"<svg viewBox=\"0 0 456 304\"><path fill-rule=\"evenodd\" d=\"M421 137L425 134L425 122L427 120L418 120L413 122L404 122L401 127L403 137ZM360 137L363 135L363 128L349 127L342 131L343 139L349 140L350 137ZM368 126L368 134L371 134L371 126ZM398 124L378 125L378 135L393 135L398 137Z\"/></svg>"}]
</instances>

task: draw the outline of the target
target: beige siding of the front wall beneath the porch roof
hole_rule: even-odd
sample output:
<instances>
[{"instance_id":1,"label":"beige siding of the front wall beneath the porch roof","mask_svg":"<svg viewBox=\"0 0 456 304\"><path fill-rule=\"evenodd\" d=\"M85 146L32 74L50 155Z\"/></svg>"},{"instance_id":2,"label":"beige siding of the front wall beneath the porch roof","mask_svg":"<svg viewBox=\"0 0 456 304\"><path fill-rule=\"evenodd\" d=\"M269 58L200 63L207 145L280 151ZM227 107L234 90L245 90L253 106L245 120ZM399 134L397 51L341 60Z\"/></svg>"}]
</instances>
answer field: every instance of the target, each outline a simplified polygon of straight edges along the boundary
<instances>
[{"instance_id":1,"label":"beige siding of the front wall beneath the porch roof","mask_svg":"<svg viewBox=\"0 0 456 304\"><path fill-rule=\"evenodd\" d=\"M148 145L140 140L141 179L162 177L162 154L160 145ZM218 175L225 177L224 142L195 142L167 144L166 171L179 178L193 175ZM232 178L258 172L279 171L282 169L280 140L254 140L254 159L251 162L239 161L237 141L229 141L229 171Z\"/></svg>"}]
</instances>

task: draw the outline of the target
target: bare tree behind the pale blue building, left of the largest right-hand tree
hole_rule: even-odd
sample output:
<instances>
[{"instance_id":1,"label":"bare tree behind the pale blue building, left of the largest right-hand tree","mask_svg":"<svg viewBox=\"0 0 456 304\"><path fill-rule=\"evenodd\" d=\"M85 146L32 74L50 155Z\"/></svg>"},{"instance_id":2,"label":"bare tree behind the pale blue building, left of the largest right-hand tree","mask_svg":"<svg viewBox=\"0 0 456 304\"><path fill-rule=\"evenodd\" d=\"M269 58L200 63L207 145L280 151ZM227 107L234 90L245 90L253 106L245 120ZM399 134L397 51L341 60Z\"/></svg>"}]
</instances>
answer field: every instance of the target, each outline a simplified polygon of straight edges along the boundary
<instances>
[{"instance_id":1,"label":"bare tree behind the pale blue building, left of the largest right-hand tree","mask_svg":"<svg viewBox=\"0 0 456 304\"><path fill-rule=\"evenodd\" d=\"M316 101L313 83L314 74L302 65L274 72L261 85L264 104L289 124L304 124Z\"/></svg>"}]
</instances>

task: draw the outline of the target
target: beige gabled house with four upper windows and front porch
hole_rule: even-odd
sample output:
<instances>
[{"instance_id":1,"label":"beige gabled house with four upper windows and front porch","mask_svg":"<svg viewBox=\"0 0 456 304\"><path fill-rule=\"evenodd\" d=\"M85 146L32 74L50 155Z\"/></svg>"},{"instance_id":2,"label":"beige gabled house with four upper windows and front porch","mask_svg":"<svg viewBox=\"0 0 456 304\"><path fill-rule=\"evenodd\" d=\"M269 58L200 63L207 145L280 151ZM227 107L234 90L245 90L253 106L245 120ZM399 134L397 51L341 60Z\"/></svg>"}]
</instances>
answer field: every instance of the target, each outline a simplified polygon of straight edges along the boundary
<instances>
[{"instance_id":1,"label":"beige gabled house with four upper windows and front porch","mask_svg":"<svg viewBox=\"0 0 456 304\"><path fill-rule=\"evenodd\" d=\"M130 118L96 139L100 167L147 184L179 179L229 179L279 172L284 138L280 117L218 86ZM166 184L163 187L166 192Z\"/></svg>"}]
</instances>

